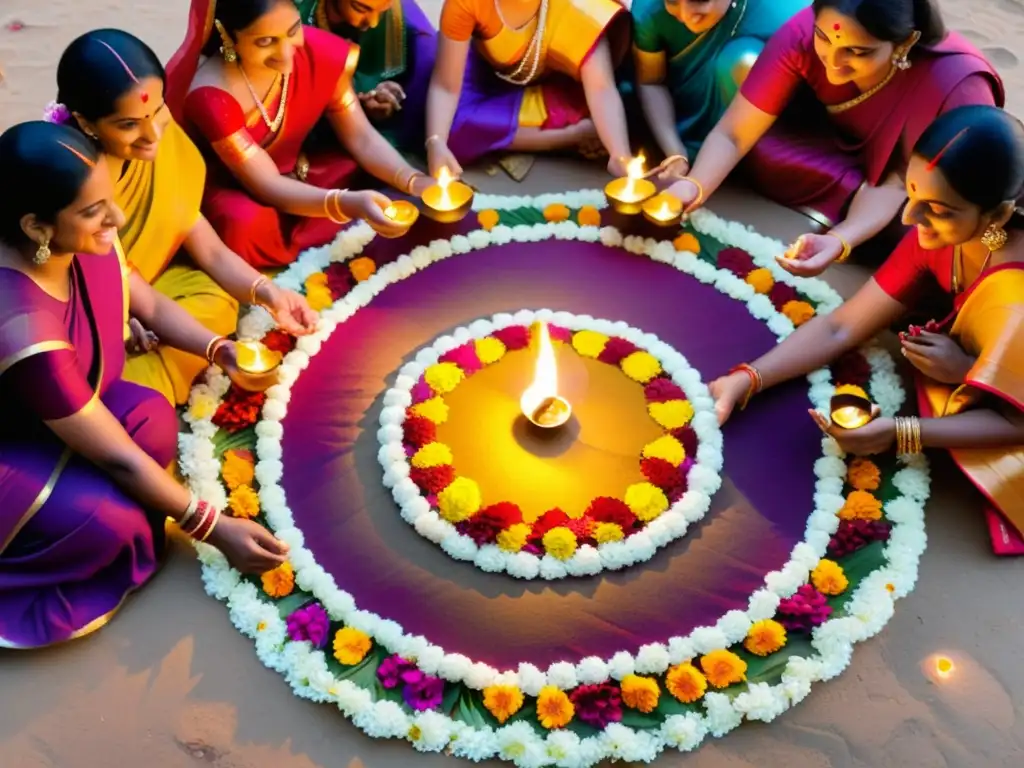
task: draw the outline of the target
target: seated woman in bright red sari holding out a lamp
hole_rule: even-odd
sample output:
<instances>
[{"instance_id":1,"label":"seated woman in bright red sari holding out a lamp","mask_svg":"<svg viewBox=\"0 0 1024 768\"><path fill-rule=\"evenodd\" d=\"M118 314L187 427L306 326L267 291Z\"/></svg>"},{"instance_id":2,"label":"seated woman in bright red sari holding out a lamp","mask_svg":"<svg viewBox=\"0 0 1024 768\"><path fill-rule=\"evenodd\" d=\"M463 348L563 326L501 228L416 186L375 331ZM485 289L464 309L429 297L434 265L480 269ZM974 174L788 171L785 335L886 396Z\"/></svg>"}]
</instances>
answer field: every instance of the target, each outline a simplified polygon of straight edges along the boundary
<instances>
[{"instance_id":1,"label":"seated woman in bright red sari holding out a lamp","mask_svg":"<svg viewBox=\"0 0 1024 768\"><path fill-rule=\"evenodd\" d=\"M257 268L291 263L352 218L400 233L387 198L345 188L360 167L411 195L433 183L367 120L352 88L358 58L350 43L304 28L291 0L193 0L167 102L207 154L203 212ZM330 135L316 135L324 118Z\"/></svg>"}]
</instances>

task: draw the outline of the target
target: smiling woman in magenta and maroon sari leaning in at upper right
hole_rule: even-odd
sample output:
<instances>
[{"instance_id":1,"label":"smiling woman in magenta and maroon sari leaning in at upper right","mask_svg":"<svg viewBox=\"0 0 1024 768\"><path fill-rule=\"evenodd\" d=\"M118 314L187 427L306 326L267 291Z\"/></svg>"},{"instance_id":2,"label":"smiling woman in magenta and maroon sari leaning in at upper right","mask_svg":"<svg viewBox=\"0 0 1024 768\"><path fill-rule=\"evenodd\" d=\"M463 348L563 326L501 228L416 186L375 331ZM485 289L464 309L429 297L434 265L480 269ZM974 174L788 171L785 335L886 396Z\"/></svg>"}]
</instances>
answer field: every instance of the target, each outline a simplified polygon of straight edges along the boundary
<instances>
[{"instance_id":1,"label":"smiling woman in magenta and maroon sari leaning in at upper right","mask_svg":"<svg viewBox=\"0 0 1024 768\"><path fill-rule=\"evenodd\" d=\"M755 188L831 227L784 262L817 274L895 219L910 150L937 116L1002 103L995 71L946 34L934 0L814 0L768 42L673 193L700 205L745 157Z\"/></svg>"}]
</instances>

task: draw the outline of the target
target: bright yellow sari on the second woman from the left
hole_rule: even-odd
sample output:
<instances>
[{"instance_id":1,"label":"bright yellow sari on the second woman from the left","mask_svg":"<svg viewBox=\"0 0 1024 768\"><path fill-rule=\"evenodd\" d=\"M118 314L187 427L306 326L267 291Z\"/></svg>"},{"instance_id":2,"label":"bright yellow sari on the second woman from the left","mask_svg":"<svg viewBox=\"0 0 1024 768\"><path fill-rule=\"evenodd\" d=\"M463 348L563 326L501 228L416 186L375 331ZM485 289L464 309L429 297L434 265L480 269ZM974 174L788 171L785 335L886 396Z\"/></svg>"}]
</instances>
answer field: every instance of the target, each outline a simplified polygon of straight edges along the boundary
<instances>
[{"instance_id":1,"label":"bright yellow sari on the second woman from the left","mask_svg":"<svg viewBox=\"0 0 1024 768\"><path fill-rule=\"evenodd\" d=\"M114 180L115 199L126 217L121 243L129 264L146 283L210 331L228 336L238 325L238 301L206 272L175 259L202 215L205 180L203 156L172 121L161 137L156 160L130 161ZM180 406L206 366L203 357L161 345L131 355L125 379L156 389Z\"/></svg>"}]
</instances>

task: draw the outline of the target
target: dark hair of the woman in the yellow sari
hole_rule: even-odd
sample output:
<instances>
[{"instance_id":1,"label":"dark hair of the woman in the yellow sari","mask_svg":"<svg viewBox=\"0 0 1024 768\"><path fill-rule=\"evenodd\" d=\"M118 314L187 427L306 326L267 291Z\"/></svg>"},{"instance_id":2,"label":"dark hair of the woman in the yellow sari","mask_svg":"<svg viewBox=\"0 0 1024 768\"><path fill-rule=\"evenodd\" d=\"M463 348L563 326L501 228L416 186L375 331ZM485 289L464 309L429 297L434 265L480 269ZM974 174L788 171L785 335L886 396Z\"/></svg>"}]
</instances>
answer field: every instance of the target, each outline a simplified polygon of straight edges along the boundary
<instances>
[{"instance_id":1,"label":"dark hair of the woman in the yellow sari","mask_svg":"<svg viewBox=\"0 0 1024 768\"><path fill-rule=\"evenodd\" d=\"M57 101L86 120L113 115L137 80L167 79L153 49L121 30L93 30L76 39L57 65Z\"/></svg>"}]
</instances>

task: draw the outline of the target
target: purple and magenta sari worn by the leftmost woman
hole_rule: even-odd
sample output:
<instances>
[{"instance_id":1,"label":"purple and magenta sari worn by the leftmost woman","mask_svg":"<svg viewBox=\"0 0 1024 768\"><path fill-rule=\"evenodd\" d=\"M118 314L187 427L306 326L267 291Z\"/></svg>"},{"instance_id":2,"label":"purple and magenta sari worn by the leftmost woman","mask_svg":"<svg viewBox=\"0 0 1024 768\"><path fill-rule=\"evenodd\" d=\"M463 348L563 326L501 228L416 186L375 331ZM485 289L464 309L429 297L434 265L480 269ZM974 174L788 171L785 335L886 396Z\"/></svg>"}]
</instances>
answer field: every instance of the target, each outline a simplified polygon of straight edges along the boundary
<instances>
[{"instance_id":1,"label":"purple and magenta sari worn by the leftmost woman","mask_svg":"<svg viewBox=\"0 0 1024 768\"><path fill-rule=\"evenodd\" d=\"M0 647L38 648L105 625L157 570L164 517L143 510L44 423L102 402L161 465L177 418L122 379L119 257L76 256L71 297L0 268Z\"/></svg>"}]
</instances>

